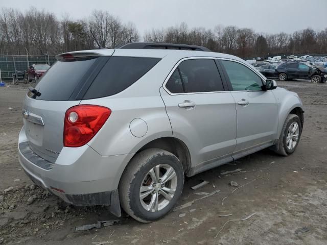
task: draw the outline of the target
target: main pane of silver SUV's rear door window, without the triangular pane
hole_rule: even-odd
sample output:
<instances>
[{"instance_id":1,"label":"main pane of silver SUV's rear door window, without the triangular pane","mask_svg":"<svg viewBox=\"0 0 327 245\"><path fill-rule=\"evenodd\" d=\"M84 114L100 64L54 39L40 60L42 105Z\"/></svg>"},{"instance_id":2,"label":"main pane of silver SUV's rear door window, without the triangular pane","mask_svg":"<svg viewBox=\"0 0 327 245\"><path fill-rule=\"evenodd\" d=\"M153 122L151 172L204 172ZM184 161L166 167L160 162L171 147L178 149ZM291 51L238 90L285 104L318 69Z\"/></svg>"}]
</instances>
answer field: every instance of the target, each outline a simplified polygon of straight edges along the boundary
<instances>
[{"instance_id":1,"label":"main pane of silver SUV's rear door window, without the triangular pane","mask_svg":"<svg viewBox=\"0 0 327 245\"><path fill-rule=\"evenodd\" d=\"M223 91L224 87L214 60L185 60L179 64L185 93Z\"/></svg>"}]
</instances>

